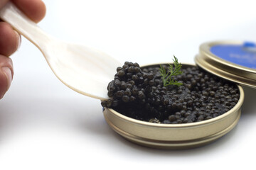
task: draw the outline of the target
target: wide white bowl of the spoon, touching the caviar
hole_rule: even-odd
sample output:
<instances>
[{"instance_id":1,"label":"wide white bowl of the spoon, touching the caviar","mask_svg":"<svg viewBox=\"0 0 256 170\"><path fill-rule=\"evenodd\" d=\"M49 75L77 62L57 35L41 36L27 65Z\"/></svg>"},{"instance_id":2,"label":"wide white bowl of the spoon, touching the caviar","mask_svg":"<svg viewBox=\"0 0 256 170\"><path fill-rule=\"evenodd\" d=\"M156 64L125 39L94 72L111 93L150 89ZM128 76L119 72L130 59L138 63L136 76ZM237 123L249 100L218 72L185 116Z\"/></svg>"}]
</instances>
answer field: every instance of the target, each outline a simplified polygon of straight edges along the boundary
<instances>
[{"instance_id":1,"label":"wide white bowl of the spoon, touching the caviar","mask_svg":"<svg viewBox=\"0 0 256 170\"><path fill-rule=\"evenodd\" d=\"M91 47L58 40L50 44L43 55L63 84L92 98L108 98L107 84L114 78L119 62Z\"/></svg>"}]
</instances>

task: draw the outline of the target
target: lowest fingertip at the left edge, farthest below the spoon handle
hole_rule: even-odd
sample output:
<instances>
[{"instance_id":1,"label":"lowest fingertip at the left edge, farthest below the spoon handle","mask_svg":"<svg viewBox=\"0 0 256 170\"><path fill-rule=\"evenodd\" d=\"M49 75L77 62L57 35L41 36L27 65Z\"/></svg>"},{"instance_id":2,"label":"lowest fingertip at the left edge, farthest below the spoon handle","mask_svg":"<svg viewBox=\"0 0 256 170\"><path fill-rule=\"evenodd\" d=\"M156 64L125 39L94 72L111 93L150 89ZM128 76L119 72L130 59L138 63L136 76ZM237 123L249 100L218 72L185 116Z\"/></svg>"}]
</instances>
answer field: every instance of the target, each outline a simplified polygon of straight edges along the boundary
<instances>
[{"instance_id":1,"label":"lowest fingertip at the left edge, farthest below the spoon handle","mask_svg":"<svg viewBox=\"0 0 256 170\"><path fill-rule=\"evenodd\" d=\"M11 58L0 55L0 98L3 98L11 86L14 69Z\"/></svg>"}]
</instances>

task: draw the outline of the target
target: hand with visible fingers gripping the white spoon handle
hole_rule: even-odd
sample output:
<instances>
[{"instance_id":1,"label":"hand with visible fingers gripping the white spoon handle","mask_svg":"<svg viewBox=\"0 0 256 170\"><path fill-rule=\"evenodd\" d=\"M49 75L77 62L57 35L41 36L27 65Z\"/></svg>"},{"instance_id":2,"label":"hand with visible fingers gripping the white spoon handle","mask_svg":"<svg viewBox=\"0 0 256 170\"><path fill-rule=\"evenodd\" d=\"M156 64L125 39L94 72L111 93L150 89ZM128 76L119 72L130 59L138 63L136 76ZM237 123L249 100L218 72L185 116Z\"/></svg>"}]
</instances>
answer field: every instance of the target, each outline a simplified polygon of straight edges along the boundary
<instances>
[{"instance_id":1,"label":"hand with visible fingers gripping the white spoon handle","mask_svg":"<svg viewBox=\"0 0 256 170\"><path fill-rule=\"evenodd\" d=\"M0 0L2 8L9 0ZM46 15L46 6L41 0L12 0L23 13L38 23ZM9 23L0 21L0 99L11 86L14 76L13 63L9 56L16 52L21 43L21 35Z\"/></svg>"}]
</instances>

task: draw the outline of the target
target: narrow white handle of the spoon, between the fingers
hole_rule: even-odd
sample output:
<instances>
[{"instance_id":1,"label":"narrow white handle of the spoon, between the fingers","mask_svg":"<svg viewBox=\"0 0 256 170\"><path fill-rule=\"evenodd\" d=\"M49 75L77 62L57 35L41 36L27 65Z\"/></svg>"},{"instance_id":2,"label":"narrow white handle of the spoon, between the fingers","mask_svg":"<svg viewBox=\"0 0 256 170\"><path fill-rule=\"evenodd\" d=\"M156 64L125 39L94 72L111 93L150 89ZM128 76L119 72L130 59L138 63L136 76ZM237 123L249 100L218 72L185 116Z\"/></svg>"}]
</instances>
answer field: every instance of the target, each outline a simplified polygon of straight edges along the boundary
<instances>
[{"instance_id":1,"label":"narrow white handle of the spoon, between the fingers","mask_svg":"<svg viewBox=\"0 0 256 170\"><path fill-rule=\"evenodd\" d=\"M49 35L41 30L11 1L0 10L0 18L9 23L18 33L30 40L36 47L42 49L50 41Z\"/></svg>"}]
</instances>

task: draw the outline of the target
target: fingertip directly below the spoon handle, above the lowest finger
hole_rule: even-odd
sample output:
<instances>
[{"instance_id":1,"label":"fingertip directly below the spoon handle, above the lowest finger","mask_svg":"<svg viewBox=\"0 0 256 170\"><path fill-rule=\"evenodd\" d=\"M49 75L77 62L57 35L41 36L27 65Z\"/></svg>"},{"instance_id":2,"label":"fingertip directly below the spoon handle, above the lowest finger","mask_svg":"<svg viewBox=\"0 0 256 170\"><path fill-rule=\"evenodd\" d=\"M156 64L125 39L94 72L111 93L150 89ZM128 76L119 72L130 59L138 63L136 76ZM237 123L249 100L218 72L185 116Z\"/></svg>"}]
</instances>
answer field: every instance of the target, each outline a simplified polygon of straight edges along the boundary
<instances>
[{"instance_id":1,"label":"fingertip directly below the spoon handle, above the lowest finger","mask_svg":"<svg viewBox=\"0 0 256 170\"><path fill-rule=\"evenodd\" d=\"M10 56L21 43L21 36L9 23L0 22L0 55Z\"/></svg>"}]
</instances>

